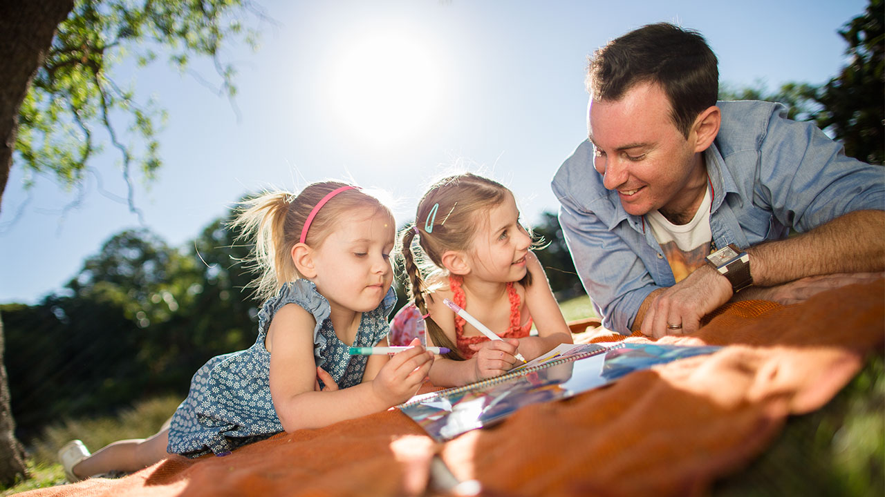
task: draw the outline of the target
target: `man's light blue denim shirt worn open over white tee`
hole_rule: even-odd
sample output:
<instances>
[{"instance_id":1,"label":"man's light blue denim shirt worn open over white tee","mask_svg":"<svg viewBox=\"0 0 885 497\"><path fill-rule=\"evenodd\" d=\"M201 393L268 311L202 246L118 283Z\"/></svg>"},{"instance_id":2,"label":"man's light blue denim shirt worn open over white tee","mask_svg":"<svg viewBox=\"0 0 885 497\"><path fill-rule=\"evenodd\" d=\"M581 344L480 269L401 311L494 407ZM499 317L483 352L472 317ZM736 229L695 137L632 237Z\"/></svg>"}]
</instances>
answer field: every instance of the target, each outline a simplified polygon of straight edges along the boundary
<instances>
[{"instance_id":1,"label":"man's light blue denim shirt worn open over white tee","mask_svg":"<svg viewBox=\"0 0 885 497\"><path fill-rule=\"evenodd\" d=\"M740 248L806 232L852 210L885 210L885 168L846 157L811 123L787 119L780 103L719 102L720 132L704 151L713 189L710 229L717 247ZM559 224L603 325L630 327L645 298L675 284L642 216L627 214L603 186L584 141L552 182Z\"/></svg>"}]
</instances>

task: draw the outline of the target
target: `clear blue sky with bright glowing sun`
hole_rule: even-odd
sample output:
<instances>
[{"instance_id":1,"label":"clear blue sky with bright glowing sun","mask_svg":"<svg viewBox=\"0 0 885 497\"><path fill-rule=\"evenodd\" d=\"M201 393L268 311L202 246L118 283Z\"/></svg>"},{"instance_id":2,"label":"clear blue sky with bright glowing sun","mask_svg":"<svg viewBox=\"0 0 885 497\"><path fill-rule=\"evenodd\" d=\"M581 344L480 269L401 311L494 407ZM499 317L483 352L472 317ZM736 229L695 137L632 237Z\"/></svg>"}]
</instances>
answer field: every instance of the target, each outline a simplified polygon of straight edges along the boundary
<instances>
[{"instance_id":1,"label":"clear blue sky with bright glowing sun","mask_svg":"<svg viewBox=\"0 0 885 497\"><path fill-rule=\"evenodd\" d=\"M704 34L729 87L821 84L844 65L836 31L860 0L733 2L622 0L258 0L260 46L227 46L234 103L210 88L212 66L181 74L158 57L112 77L168 112L157 178L127 195L119 154L105 143L81 201L13 161L0 210L0 303L35 304L60 291L112 235L148 227L185 247L242 195L296 192L318 180L380 187L397 223L424 188L450 172L510 187L523 220L558 202L550 180L587 138L587 57L631 29L668 21ZM253 18L254 19L254 18ZM208 83L208 84L207 84ZM125 126L119 121L118 126Z\"/></svg>"}]
</instances>

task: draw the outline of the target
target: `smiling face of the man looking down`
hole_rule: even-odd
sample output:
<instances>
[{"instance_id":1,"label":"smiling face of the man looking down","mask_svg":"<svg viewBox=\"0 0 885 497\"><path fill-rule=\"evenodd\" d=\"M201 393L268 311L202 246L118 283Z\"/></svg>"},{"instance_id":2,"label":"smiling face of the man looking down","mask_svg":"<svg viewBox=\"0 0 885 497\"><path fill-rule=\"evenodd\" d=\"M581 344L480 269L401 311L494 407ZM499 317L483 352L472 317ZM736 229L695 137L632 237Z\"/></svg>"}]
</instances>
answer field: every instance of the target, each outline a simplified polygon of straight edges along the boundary
<instances>
[{"instance_id":1,"label":"smiling face of the man looking down","mask_svg":"<svg viewBox=\"0 0 885 497\"><path fill-rule=\"evenodd\" d=\"M687 186L704 178L705 169L694 134L686 140L673 123L662 88L640 83L617 101L591 97L588 131L596 172L604 175L606 188L618 192L624 210L635 216L651 210L688 214L683 211L696 195L686 198Z\"/></svg>"}]
</instances>

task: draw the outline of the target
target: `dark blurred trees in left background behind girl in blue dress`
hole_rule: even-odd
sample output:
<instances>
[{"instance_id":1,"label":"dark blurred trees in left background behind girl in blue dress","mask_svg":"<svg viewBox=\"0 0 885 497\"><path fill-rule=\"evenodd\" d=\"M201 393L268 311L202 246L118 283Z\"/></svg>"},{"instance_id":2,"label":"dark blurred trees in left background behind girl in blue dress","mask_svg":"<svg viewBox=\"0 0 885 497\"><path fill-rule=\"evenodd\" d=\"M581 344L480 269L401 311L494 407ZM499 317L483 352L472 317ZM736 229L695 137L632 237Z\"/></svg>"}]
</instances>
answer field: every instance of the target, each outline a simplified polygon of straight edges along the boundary
<instances>
[{"instance_id":1,"label":"dark blurred trees in left background behind girl in blue dress","mask_svg":"<svg viewBox=\"0 0 885 497\"><path fill-rule=\"evenodd\" d=\"M118 233L66 294L3 307L19 436L146 394L183 396L209 357L252 344L258 311L240 293L249 276L234 264L248 248L232 245L225 221L212 221L187 251L148 230Z\"/></svg>"}]
</instances>

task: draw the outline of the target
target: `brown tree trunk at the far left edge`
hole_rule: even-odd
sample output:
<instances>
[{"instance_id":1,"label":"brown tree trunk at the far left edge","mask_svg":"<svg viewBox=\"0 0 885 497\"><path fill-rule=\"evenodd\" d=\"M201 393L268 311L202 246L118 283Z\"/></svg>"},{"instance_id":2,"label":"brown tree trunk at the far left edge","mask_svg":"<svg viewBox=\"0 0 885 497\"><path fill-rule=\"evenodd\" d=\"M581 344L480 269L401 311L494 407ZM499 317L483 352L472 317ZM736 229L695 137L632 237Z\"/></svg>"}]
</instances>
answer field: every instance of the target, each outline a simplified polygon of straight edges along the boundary
<instances>
[{"instance_id":1,"label":"brown tree trunk at the far left edge","mask_svg":"<svg viewBox=\"0 0 885 497\"><path fill-rule=\"evenodd\" d=\"M0 205L12 168L19 107L50 48L58 23L71 10L73 0L0 0ZM10 486L24 477L26 470L24 451L15 438L3 352L0 319L0 485Z\"/></svg>"}]
</instances>

